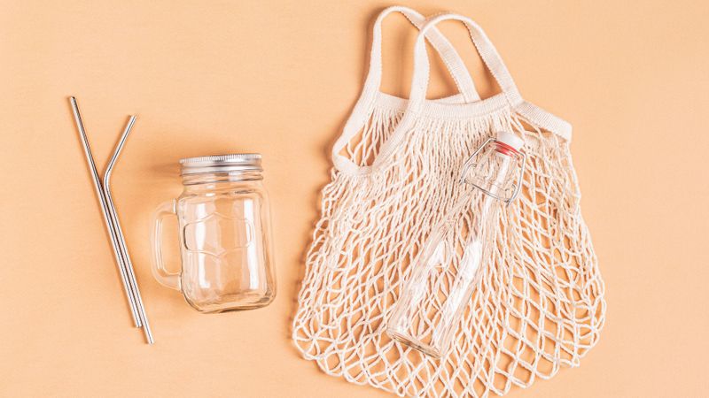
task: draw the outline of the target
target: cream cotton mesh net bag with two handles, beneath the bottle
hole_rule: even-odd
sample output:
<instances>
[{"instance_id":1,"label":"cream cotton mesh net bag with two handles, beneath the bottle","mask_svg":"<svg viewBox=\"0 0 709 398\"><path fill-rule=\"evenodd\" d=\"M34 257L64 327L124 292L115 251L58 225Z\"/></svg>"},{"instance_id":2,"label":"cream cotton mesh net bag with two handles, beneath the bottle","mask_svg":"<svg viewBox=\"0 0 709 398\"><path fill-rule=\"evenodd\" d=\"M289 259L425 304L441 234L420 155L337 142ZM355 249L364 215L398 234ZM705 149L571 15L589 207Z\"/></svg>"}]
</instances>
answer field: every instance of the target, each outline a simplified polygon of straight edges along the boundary
<instances>
[{"instance_id":1,"label":"cream cotton mesh net bag with two handles, beneath the bottle","mask_svg":"<svg viewBox=\"0 0 709 398\"><path fill-rule=\"evenodd\" d=\"M379 92L381 21L404 13L421 32L410 99ZM435 29L463 21L502 93L479 100L460 57ZM578 366L604 324L604 283L569 142L571 126L519 95L495 47L471 19L425 20L393 7L375 25L370 73L333 149L332 182L308 253L293 340L323 371L400 395L485 396ZM460 95L425 100L427 38ZM435 361L384 333L392 304L432 226L455 203L459 171L495 131L520 134L528 160L517 202L500 211L492 261L448 356ZM444 287L445 288L445 287Z\"/></svg>"}]
</instances>

